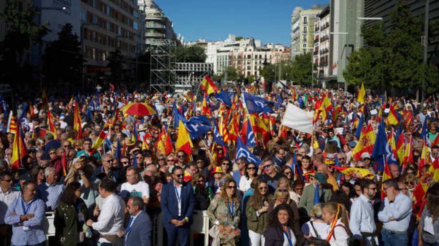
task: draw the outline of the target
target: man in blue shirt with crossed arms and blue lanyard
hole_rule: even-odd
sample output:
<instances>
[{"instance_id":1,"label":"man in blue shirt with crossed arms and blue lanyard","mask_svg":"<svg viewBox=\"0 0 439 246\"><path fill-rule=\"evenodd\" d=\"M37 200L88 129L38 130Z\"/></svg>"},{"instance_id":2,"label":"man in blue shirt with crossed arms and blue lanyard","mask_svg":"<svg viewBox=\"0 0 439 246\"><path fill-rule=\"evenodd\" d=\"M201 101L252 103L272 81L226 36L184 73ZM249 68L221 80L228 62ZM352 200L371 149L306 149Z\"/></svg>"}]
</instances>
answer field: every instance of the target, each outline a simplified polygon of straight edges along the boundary
<instances>
[{"instance_id":1,"label":"man in blue shirt with crossed arms and blue lanyard","mask_svg":"<svg viewBox=\"0 0 439 246\"><path fill-rule=\"evenodd\" d=\"M37 184L23 183L23 196L13 201L6 211L4 222L12 227L11 245L43 246L46 236L42 227L45 204L36 198Z\"/></svg>"}]
</instances>

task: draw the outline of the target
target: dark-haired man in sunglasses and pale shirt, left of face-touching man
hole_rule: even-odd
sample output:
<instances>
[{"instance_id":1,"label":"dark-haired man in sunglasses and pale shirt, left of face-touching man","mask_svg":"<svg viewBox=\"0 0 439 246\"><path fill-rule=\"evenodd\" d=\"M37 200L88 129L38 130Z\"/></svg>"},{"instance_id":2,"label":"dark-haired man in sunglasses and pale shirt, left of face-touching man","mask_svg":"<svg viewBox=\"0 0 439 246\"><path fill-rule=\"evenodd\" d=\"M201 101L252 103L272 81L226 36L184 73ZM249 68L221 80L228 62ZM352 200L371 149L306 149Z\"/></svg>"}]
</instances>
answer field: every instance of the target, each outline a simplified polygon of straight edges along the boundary
<instances>
[{"instance_id":1,"label":"dark-haired man in sunglasses and pale shirt, left of face-touching man","mask_svg":"<svg viewBox=\"0 0 439 246\"><path fill-rule=\"evenodd\" d=\"M361 245L377 246L377 226L375 224L372 199L378 193L377 184L371 179L363 179L360 183L361 195L352 203L349 228L354 238Z\"/></svg>"}]
</instances>

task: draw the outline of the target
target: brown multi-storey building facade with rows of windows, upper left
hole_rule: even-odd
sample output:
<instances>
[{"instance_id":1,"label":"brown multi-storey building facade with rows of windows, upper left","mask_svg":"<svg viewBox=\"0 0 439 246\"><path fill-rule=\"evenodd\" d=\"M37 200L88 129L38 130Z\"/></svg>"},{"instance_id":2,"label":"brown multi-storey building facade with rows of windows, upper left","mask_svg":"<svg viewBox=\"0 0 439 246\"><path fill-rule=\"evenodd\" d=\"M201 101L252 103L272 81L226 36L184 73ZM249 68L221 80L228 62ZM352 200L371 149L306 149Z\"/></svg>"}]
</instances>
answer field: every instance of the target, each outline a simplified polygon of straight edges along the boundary
<instances>
[{"instance_id":1,"label":"brown multi-storey building facade with rows of windows, upper left","mask_svg":"<svg viewBox=\"0 0 439 246\"><path fill-rule=\"evenodd\" d=\"M122 60L139 53L139 10L136 0L81 0L81 27L85 72L89 80L103 77L108 57L120 50ZM130 63L123 63L129 70Z\"/></svg>"}]
</instances>

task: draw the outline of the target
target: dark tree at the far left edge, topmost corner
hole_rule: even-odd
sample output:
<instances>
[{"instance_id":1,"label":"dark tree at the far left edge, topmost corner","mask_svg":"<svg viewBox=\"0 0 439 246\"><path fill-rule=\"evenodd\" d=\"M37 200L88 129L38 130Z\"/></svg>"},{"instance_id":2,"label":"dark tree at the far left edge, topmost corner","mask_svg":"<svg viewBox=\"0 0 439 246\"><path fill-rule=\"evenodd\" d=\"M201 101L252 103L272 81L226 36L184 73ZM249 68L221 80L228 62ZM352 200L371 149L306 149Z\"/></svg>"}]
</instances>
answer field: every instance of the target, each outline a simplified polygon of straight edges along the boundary
<instances>
[{"instance_id":1,"label":"dark tree at the far left edge, topmost corner","mask_svg":"<svg viewBox=\"0 0 439 246\"><path fill-rule=\"evenodd\" d=\"M31 43L41 44L42 38L50 31L43 24L38 24L36 16L40 15L31 1L19 10L19 0L5 2L4 12L0 18L6 23L7 34L0 42L0 80L2 83L20 85L23 81L31 81L35 69L26 59L19 57L29 49Z\"/></svg>"}]
</instances>

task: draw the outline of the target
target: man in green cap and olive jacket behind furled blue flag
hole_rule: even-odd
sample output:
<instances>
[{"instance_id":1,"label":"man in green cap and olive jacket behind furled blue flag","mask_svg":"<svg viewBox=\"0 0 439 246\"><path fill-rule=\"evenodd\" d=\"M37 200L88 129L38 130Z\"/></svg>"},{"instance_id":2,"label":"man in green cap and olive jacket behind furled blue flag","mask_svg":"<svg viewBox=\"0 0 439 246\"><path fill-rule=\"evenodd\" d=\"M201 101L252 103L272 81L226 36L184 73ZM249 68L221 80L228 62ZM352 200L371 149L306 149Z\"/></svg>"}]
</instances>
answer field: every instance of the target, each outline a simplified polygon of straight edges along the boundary
<instances>
[{"instance_id":1,"label":"man in green cap and olive jacket behind furled blue flag","mask_svg":"<svg viewBox=\"0 0 439 246\"><path fill-rule=\"evenodd\" d=\"M316 188L319 189L319 200L320 202L327 202L331 199L332 190L325 186L328 182L326 181L325 174L316 173L314 176L314 183L305 186L302 196L299 201L299 208L305 209L308 213L314 207L314 194L316 193Z\"/></svg>"}]
</instances>

